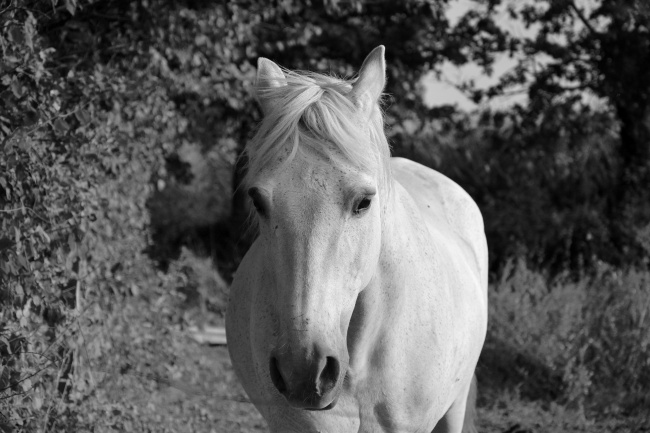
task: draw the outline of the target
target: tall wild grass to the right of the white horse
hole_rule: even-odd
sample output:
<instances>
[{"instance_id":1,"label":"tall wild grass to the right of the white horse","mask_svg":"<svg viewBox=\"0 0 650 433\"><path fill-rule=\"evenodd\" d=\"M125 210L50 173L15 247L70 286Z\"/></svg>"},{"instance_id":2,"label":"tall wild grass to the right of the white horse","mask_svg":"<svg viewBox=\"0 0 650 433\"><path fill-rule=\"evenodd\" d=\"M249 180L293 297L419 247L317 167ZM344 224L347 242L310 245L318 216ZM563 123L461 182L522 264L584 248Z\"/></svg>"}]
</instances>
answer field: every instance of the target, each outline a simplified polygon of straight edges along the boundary
<instances>
[{"instance_id":1,"label":"tall wild grass to the right of the white horse","mask_svg":"<svg viewBox=\"0 0 650 433\"><path fill-rule=\"evenodd\" d=\"M548 285L523 262L510 264L490 290L479 373L490 383L503 378L495 367L510 369L504 380L520 376L523 396L550 399L590 418L647 415L649 278L601 266L593 277L558 277Z\"/></svg>"}]
</instances>

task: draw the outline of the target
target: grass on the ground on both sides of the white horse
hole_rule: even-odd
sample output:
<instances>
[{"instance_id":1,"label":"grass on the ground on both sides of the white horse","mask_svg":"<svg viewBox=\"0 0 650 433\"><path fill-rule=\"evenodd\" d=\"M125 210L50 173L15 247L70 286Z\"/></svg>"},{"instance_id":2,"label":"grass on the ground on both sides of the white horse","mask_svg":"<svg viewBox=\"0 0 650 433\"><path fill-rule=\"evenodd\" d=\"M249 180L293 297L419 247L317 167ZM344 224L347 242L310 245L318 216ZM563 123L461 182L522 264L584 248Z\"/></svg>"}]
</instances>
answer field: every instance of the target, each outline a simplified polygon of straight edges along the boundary
<instances>
[{"instance_id":1,"label":"grass on the ground on both sides of the white horse","mask_svg":"<svg viewBox=\"0 0 650 433\"><path fill-rule=\"evenodd\" d=\"M191 254L169 272L181 270L188 287L211 280L205 260ZM648 273L603 268L548 283L521 263L508 267L490 288L480 431L650 431L649 282ZM198 346L184 333L195 318L221 320L190 297L184 289L125 300L100 325L111 349L78 372L99 385L77 400L77 431L267 431L226 349Z\"/></svg>"}]
</instances>

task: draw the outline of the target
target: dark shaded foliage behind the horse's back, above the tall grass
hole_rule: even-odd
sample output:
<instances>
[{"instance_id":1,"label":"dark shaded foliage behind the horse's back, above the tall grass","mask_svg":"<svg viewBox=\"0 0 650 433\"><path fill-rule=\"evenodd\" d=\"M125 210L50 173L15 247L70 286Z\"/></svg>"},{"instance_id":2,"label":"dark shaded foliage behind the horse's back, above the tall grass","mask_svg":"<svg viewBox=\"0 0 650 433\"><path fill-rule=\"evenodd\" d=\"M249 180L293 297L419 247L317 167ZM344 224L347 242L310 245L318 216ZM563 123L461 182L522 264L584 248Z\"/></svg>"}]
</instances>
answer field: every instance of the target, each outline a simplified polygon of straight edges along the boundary
<instances>
[{"instance_id":1,"label":"dark shaded foliage behind the horse's back, above the tall grass","mask_svg":"<svg viewBox=\"0 0 650 433\"><path fill-rule=\"evenodd\" d=\"M608 213L620 164L608 111L567 101L452 115L401 134L409 146L398 154L445 173L475 198L493 271L518 257L550 274L587 271L598 261L647 265L641 231L625 242L624 221Z\"/></svg>"}]
</instances>

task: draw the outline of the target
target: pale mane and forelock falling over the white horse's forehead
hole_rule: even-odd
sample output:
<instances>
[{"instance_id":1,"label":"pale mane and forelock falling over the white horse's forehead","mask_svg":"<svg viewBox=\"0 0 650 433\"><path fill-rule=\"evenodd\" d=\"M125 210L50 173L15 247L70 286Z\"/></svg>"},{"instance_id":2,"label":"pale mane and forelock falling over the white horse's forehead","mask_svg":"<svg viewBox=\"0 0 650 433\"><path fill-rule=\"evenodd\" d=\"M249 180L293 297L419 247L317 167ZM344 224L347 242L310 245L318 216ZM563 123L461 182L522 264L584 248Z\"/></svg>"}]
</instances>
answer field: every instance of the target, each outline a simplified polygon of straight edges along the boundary
<instances>
[{"instance_id":1,"label":"pale mane and forelock falling over the white horse's forehead","mask_svg":"<svg viewBox=\"0 0 650 433\"><path fill-rule=\"evenodd\" d=\"M265 81L256 85L259 99L269 103L245 149L243 185L251 185L270 163L290 162L301 146L324 154L323 142L333 144L359 169L379 167L380 181L389 185L390 148L379 103L359 110L347 96L354 80L314 72L283 72L284 78L275 86Z\"/></svg>"}]
</instances>

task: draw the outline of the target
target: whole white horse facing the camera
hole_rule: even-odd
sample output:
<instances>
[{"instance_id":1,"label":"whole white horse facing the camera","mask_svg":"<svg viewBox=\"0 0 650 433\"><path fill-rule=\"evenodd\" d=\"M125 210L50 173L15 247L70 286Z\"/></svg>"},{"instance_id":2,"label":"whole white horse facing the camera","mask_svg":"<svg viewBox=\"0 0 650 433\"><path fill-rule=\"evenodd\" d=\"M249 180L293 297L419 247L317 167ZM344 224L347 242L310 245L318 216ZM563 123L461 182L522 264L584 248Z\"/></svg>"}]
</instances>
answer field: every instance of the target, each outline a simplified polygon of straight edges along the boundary
<instances>
[{"instance_id":1,"label":"whole white horse facing the camera","mask_svg":"<svg viewBox=\"0 0 650 433\"><path fill-rule=\"evenodd\" d=\"M226 312L271 432L473 432L487 243L456 183L391 158L384 47L356 79L258 60L243 191L256 238Z\"/></svg>"}]
</instances>

